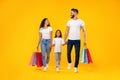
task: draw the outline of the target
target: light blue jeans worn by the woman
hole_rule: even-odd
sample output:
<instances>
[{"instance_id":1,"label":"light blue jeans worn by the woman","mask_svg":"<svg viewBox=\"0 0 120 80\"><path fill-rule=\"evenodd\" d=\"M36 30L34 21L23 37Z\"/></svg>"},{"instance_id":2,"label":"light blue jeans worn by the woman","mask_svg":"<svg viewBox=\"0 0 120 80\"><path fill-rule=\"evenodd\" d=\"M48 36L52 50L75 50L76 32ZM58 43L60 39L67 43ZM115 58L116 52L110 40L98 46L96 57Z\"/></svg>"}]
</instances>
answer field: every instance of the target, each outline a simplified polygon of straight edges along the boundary
<instances>
[{"instance_id":1,"label":"light blue jeans worn by the woman","mask_svg":"<svg viewBox=\"0 0 120 80\"><path fill-rule=\"evenodd\" d=\"M42 39L41 40L41 51L42 51L42 62L43 66L46 67L46 64L49 63L50 60L50 39Z\"/></svg>"}]
</instances>

